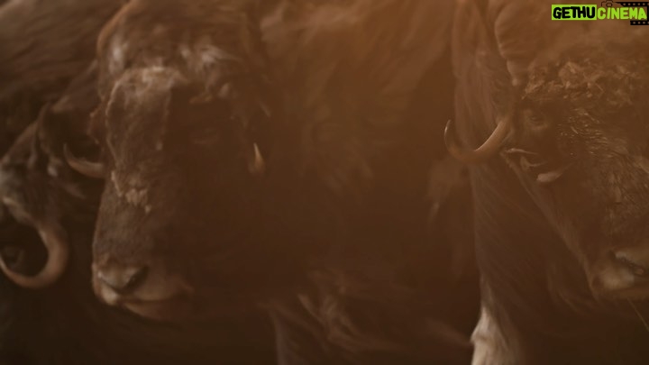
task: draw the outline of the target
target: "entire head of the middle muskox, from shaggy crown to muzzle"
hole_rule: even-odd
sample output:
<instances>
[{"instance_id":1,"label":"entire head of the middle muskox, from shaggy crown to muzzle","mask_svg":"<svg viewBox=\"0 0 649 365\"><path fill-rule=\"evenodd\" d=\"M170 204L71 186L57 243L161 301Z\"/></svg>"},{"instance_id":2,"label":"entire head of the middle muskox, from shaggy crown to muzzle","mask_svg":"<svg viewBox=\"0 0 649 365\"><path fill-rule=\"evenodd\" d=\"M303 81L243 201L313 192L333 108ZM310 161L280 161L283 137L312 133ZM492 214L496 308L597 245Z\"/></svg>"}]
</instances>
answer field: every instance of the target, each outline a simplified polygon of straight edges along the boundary
<instances>
[{"instance_id":1,"label":"entire head of the middle muskox, from shaggy crown to muzzle","mask_svg":"<svg viewBox=\"0 0 649 365\"><path fill-rule=\"evenodd\" d=\"M264 58L249 53L259 50L241 10L213 6L208 21L206 9L173 2L114 19L100 37L102 103L91 126L103 159L69 159L105 177L97 296L151 318L195 315L193 299L209 287L227 302L249 284L234 258L258 221L258 133L268 115L249 62ZM160 21L167 12L176 23Z\"/></svg>"}]
</instances>

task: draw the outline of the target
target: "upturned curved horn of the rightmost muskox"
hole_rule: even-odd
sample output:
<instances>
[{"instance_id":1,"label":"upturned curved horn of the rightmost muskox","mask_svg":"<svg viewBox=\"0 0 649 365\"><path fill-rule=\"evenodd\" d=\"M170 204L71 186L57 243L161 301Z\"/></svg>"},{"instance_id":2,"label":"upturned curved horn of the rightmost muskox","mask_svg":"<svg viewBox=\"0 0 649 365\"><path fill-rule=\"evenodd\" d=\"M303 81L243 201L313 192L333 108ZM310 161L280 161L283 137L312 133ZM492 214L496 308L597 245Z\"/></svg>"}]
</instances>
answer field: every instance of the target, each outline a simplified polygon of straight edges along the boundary
<instances>
[{"instance_id":1,"label":"upturned curved horn of the rightmost muskox","mask_svg":"<svg viewBox=\"0 0 649 365\"><path fill-rule=\"evenodd\" d=\"M514 113L509 112L496 126L487 141L473 151L462 151L462 148L455 141L455 128L452 121L446 123L444 129L444 143L449 153L457 160L466 164L478 164L498 153L503 141L507 138L507 133L511 130Z\"/></svg>"}]
</instances>

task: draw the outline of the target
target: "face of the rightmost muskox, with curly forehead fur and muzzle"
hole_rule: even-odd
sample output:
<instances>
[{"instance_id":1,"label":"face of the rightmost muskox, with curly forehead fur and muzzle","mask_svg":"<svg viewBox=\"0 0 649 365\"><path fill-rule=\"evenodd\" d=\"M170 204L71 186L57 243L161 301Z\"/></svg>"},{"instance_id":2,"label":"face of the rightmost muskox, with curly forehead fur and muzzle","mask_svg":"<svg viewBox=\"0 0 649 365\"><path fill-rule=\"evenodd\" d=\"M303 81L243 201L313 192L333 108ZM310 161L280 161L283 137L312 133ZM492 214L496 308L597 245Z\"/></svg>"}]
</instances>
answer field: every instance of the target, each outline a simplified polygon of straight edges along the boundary
<instances>
[{"instance_id":1,"label":"face of the rightmost muskox, with curly forehead fur and muzzle","mask_svg":"<svg viewBox=\"0 0 649 365\"><path fill-rule=\"evenodd\" d=\"M596 296L649 295L646 52L573 48L532 68L502 152Z\"/></svg>"}]
</instances>

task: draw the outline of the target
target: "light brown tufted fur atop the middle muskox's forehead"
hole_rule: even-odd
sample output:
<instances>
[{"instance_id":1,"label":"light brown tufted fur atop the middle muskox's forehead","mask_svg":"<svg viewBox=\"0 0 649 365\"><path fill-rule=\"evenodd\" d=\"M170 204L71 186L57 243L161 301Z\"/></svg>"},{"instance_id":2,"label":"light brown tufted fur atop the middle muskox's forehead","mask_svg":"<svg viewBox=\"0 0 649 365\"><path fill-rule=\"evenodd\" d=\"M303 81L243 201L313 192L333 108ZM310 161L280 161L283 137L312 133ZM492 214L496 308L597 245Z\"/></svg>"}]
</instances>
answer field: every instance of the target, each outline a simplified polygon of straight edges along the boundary
<instances>
[{"instance_id":1,"label":"light brown tufted fur atop the middle muskox's forehead","mask_svg":"<svg viewBox=\"0 0 649 365\"><path fill-rule=\"evenodd\" d=\"M235 53L252 49L246 37L236 37L242 39L236 43L227 37L231 32L248 32L249 24L239 22L245 16L247 1L236 6L214 1L207 9L167 0L155 5L147 5L149 2L133 0L123 6L101 32L97 54L103 62L103 78L115 78L127 67L171 66L187 78L211 85L227 72L219 68L228 61L241 60ZM144 8L154 12L145 13ZM168 13L174 14L173 23L156 17Z\"/></svg>"}]
</instances>

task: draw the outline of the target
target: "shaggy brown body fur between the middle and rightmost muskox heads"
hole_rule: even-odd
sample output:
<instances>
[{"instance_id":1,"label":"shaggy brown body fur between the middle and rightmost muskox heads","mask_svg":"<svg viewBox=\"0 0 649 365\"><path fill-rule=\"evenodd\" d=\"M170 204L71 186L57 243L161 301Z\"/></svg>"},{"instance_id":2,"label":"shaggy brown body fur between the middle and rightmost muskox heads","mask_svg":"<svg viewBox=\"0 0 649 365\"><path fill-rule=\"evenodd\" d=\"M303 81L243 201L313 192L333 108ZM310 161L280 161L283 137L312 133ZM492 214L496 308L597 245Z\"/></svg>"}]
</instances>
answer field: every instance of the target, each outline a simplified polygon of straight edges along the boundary
<instances>
[{"instance_id":1,"label":"shaggy brown body fur between the middle and rightmost muskox heads","mask_svg":"<svg viewBox=\"0 0 649 365\"><path fill-rule=\"evenodd\" d=\"M291 218L295 241L313 250L306 256L312 266L327 268L310 271L309 277L320 278L310 284L317 289L305 290L296 304L288 304L294 308L291 315L280 305L276 311L293 332L283 333L290 348L297 348L291 342L320 348L301 353L303 360L462 361L462 346L441 340L437 335L444 331L426 323L462 313L472 324L471 305L453 312L439 297L446 293L452 302L471 292L466 271L461 274L466 290L455 291L448 278L452 267L462 265L450 264L446 244L457 242L461 248L461 235L437 228L431 238L425 232L425 171L432 156L443 156L430 136L442 130L452 91L441 57L444 14L451 11L452 4L443 2L285 2L262 22L279 85L288 90L287 120L296 125L297 144L273 153L292 161L283 161L286 175L300 177L302 184L276 199L293 202L288 214L304 212ZM434 224L450 227L452 221L441 217L451 216L444 184L452 181L445 175L452 168L444 165L439 171L431 193L443 208ZM470 224L467 202L453 201L462 206L456 222ZM433 261L434 269L422 269ZM417 347L426 338L426 350ZM442 343L449 345L446 351L436 347Z\"/></svg>"}]
</instances>

